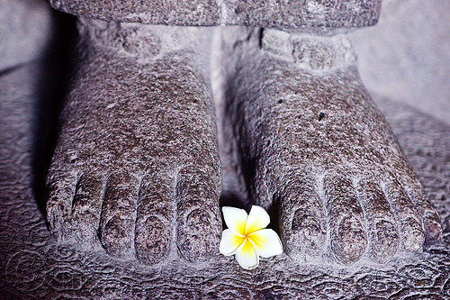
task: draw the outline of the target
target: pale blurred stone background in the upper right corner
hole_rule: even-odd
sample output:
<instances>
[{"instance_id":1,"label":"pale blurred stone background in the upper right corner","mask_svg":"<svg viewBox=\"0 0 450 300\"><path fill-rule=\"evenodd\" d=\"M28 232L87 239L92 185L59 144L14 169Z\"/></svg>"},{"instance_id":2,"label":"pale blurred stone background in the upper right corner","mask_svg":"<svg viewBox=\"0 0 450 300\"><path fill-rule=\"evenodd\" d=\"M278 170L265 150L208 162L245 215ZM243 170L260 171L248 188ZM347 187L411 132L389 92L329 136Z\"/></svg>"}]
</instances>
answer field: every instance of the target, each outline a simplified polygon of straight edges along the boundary
<instances>
[{"instance_id":1,"label":"pale blurred stone background in the upper right corner","mask_svg":"<svg viewBox=\"0 0 450 300\"><path fill-rule=\"evenodd\" d=\"M372 94L450 124L450 1L383 0L378 23L349 37Z\"/></svg>"}]
</instances>

